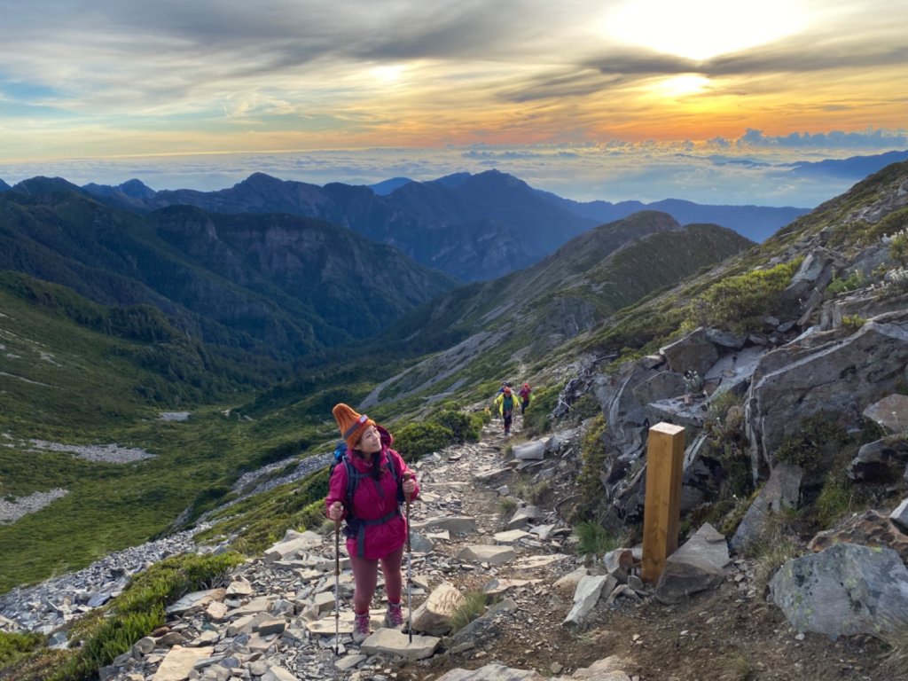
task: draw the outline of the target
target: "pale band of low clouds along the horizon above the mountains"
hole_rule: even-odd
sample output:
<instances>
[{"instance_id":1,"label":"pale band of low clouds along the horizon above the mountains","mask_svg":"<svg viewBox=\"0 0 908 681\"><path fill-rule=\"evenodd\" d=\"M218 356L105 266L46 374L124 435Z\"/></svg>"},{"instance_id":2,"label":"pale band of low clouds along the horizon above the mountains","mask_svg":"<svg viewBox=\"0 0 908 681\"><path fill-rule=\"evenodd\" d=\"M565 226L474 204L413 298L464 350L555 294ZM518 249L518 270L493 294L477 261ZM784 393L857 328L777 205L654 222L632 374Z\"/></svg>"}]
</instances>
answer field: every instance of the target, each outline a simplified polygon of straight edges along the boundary
<instances>
[{"instance_id":1,"label":"pale band of low clouds along the horizon above the mountains","mask_svg":"<svg viewBox=\"0 0 908 681\"><path fill-rule=\"evenodd\" d=\"M855 140L856 142L857 140ZM740 143L739 143L740 144ZM281 180L324 185L376 184L395 177L417 182L451 173L495 169L535 189L567 199L656 202L681 199L696 203L814 208L847 191L861 177L795 173L795 161L829 159L828 150L768 147L732 154L728 145L706 151L692 144L574 147L490 147L441 150L334 150L323 152L187 154L119 159L73 159L48 163L0 164L0 180L15 184L43 175L80 186L118 185L138 179L154 190L212 192L232 187L252 173ZM906 141L905 147L908 147ZM725 149L725 153L721 153ZM840 158L873 156L886 150L847 147ZM826 153L824 153L826 152ZM864 153L859 153L864 152ZM790 159L790 160L789 160Z\"/></svg>"}]
</instances>

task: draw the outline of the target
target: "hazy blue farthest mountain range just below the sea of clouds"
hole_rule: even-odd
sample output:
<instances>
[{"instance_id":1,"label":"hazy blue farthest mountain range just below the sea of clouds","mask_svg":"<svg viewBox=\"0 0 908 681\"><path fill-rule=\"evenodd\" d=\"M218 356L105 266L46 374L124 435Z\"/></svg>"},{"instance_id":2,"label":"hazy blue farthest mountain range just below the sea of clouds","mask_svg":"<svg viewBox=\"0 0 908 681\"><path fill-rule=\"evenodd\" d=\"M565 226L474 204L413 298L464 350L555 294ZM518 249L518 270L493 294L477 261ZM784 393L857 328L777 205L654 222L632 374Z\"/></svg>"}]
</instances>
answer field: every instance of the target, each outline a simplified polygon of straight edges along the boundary
<instances>
[{"instance_id":1,"label":"hazy blue farthest mountain range just below the sea of clouds","mask_svg":"<svg viewBox=\"0 0 908 681\"><path fill-rule=\"evenodd\" d=\"M287 212L349 227L462 281L488 281L538 262L578 234L641 210L681 224L714 223L760 242L806 208L714 206L667 199L575 202L498 171L431 182L394 178L374 187L282 181L254 173L217 192L155 192L138 180L87 184L99 200L134 212L185 204L208 212Z\"/></svg>"}]
</instances>

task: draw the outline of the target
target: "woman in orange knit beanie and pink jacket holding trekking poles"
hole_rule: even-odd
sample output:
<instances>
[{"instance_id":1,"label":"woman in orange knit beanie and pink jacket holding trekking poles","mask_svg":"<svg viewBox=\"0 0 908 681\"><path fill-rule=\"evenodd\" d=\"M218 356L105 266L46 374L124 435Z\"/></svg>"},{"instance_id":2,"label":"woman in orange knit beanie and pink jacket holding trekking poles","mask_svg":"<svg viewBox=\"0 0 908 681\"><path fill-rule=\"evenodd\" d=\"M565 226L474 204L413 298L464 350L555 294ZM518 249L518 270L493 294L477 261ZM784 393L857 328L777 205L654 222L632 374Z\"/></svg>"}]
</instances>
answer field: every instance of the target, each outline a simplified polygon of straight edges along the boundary
<instances>
[{"instance_id":1,"label":"woman in orange knit beanie and pink jacket holding trekking poles","mask_svg":"<svg viewBox=\"0 0 908 681\"><path fill-rule=\"evenodd\" d=\"M390 433L365 414L346 404L335 405L334 419L347 443L342 464L331 471L328 483L328 517L346 520L347 553L353 569L353 641L369 636L369 607L378 582L378 568L385 576L388 612L385 626L403 626L400 597L403 576L400 563L407 541L406 520L400 504L406 495L419 496L415 474L394 449Z\"/></svg>"}]
</instances>

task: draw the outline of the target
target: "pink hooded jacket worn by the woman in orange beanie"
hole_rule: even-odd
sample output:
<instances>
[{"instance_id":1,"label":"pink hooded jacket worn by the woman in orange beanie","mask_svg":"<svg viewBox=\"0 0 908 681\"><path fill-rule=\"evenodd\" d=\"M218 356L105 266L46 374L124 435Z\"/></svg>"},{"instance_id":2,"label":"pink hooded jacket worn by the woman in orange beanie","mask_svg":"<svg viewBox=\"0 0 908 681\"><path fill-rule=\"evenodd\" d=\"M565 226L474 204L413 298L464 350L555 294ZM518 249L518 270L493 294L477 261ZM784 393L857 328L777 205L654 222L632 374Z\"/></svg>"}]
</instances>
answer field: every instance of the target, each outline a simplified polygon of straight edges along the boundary
<instances>
[{"instance_id":1,"label":"pink hooded jacket worn by the woman in orange beanie","mask_svg":"<svg viewBox=\"0 0 908 681\"><path fill-rule=\"evenodd\" d=\"M390 445L393 441L390 433L381 428L381 426L376 426L376 428L379 429L381 451L373 456L379 457L381 461L380 479L373 479L369 475L371 470L370 462L356 456L351 450L348 450L347 452L347 456L352 462L353 468L360 473L367 474L365 478L360 478L352 498L354 517L365 520L367 523L370 520L391 516L392 514L395 514L395 511L399 508L397 498L398 483L388 469L389 463L397 467L396 469L399 474L398 479L401 481L403 480L403 475L405 473L409 473L413 480L416 480L416 475L400 457L400 454L394 451L394 449L390 449ZM419 483L410 499L412 500L418 496ZM325 498L326 511L335 501L340 501L341 504L344 505L343 517L347 518L349 513L349 508L346 507L347 467L342 464L335 466L331 473L331 480L328 483L328 497ZM361 558L368 558L369 560L384 558L403 546L407 541L407 522L400 512L393 515L386 522L375 525L365 525L363 529L365 534ZM357 537L355 535L352 537L348 536L347 552L350 556L360 555L357 545Z\"/></svg>"}]
</instances>

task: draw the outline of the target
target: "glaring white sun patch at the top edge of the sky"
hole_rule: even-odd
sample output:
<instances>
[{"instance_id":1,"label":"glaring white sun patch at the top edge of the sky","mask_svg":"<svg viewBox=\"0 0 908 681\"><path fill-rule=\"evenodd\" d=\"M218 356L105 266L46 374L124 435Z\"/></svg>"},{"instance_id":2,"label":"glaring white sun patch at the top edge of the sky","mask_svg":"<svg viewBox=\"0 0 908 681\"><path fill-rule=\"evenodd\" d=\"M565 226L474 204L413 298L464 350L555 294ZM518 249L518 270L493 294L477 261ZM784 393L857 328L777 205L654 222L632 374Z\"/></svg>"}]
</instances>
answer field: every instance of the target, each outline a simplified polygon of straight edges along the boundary
<instances>
[{"instance_id":1,"label":"glaring white sun patch at the top edge of the sky","mask_svg":"<svg viewBox=\"0 0 908 681\"><path fill-rule=\"evenodd\" d=\"M702 61L772 43L805 24L798 0L630 0L606 15L603 28L621 43Z\"/></svg>"}]
</instances>

